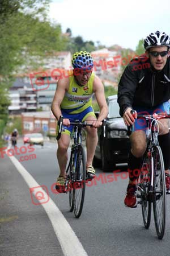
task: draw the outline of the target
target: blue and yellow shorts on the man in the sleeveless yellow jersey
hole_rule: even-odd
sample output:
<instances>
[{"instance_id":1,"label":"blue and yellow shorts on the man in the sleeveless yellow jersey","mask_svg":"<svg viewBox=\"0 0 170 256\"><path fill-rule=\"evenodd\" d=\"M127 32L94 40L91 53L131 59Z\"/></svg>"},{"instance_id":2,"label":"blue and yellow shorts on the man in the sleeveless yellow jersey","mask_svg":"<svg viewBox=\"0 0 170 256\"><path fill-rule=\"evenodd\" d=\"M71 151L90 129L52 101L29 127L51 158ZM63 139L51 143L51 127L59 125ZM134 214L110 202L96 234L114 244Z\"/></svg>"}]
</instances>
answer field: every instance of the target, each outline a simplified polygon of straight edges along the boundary
<instances>
[{"instance_id":1,"label":"blue and yellow shorts on the man in the sleeveless yellow jersey","mask_svg":"<svg viewBox=\"0 0 170 256\"><path fill-rule=\"evenodd\" d=\"M63 110L61 109L61 113L63 118L68 118L70 119L70 121L74 122L75 120L79 120L79 121L85 121L87 117L95 117L95 112L94 109L92 108L92 106L89 106L87 109L83 110L80 113L76 113L76 114L70 114L69 111L67 112L67 110ZM69 127L67 126L62 126L62 134L68 134L71 136L73 132L73 125L70 125ZM57 130L56 133L58 134L58 125L57 125Z\"/></svg>"}]
</instances>

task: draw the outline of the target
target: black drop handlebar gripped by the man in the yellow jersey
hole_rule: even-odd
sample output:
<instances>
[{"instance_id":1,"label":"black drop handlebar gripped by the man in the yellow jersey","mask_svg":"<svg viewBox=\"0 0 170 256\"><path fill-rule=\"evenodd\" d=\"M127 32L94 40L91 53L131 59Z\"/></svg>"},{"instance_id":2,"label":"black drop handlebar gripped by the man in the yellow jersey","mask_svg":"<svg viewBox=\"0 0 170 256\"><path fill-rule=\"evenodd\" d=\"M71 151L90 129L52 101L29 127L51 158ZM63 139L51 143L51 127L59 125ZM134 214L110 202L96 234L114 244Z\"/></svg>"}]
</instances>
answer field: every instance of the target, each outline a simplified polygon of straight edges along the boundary
<instances>
[{"instance_id":1,"label":"black drop handlebar gripped by the man in the yellow jersey","mask_svg":"<svg viewBox=\"0 0 170 256\"><path fill-rule=\"evenodd\" d=\"M58 121L58 135L56 137L57 141L58 139L61 137L61 129L62 129L62 123L63 123L63 116L61 115L59 117L59 121ZM88 120L90 121L90 120ZM99 120L94 120L94 121L99 121ZM104 127L104 137L105 137L105 119L100 121L103 123L103 127ZM79 121L79 120L75 120L74 122L70 122L70 125L74 125L74 126L78 126L78 127L86 127L86 126L90 126L93 127L93 125L91 123L87 123L87 121Z\"/></svg>"}]
</instances>

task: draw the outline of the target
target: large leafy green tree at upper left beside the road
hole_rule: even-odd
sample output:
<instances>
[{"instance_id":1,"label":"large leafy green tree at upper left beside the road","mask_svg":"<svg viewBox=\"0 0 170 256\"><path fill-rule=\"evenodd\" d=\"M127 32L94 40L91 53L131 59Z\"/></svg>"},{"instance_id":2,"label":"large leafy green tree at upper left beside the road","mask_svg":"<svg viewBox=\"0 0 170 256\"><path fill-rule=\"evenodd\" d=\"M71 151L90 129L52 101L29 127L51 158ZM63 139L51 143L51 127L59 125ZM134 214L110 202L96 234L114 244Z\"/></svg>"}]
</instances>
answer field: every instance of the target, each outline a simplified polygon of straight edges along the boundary
<instances>
[{"instance_id":1,"label":"large leafy green tree at upper left beside the road","mask_svg":"<svg viewBox=\"0 0 170 256\"><path fill-rule=\"evenodd\" d=\"M61 27L46 18L48 4L49 0L0 2L0 119L6 120L8 88L18 68L28 59L34 66L36 59L31 56L65 48Z\"/></svg>"}]
</instances>

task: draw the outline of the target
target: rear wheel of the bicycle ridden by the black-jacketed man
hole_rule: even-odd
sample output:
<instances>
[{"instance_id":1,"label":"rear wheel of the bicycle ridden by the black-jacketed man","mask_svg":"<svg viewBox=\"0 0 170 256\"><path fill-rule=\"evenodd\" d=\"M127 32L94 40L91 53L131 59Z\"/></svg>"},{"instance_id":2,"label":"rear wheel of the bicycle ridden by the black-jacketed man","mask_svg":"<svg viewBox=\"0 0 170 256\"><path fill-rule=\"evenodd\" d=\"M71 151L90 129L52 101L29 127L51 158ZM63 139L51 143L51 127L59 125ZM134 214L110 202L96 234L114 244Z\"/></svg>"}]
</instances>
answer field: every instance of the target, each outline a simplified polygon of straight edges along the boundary
<instances>
[{"instance_id":1,"label":"rear wheel of the bicycle ridden by the black-jacketed man","mask_svg":"<svg viewBox=\"0 0 170 256\"><path fill-rule=\"evenodd\" d=\"M141 169L141 205L142 205L142 217L143 224L146 229L150 227L151 223L151 198L150 198L150 159L147 156L147 151L143 159L142 169Z\"/></svg>"}]
</instances>

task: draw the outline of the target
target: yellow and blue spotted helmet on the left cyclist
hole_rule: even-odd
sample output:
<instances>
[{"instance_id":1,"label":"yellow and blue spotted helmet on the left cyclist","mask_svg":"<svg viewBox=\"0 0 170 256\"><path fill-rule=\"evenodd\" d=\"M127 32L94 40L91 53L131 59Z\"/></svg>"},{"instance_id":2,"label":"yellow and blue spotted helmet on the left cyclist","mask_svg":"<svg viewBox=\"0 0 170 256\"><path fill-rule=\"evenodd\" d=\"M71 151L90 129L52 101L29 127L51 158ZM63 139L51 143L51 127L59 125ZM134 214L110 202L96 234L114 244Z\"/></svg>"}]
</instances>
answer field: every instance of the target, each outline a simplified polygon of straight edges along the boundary
<instances>
[{"instance_id":1,"label":"yellow and blue spotted helmet on the left cyclist","mask_svg":"<svg viewBox=\"0 0 170 256\"><path fill-rule=\"evenodd\" d=\"M72 65L73 68L92 69L94 62L90 52L80 51L73 54Z\"/></svg>"}]
</instances>

